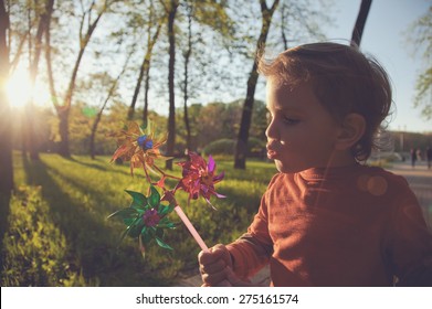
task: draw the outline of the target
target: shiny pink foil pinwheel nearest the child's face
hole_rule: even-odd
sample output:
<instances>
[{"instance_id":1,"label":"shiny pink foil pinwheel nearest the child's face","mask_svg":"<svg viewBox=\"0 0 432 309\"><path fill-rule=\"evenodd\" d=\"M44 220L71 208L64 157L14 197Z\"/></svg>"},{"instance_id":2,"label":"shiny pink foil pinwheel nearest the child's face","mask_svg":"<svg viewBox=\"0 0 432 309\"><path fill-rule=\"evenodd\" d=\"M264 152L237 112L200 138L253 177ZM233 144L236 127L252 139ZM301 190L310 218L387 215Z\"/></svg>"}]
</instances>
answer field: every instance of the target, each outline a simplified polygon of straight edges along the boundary
<instances>
[{"instance_id":1,"label":"shiny pink foil pinwheel nearest the child's face","mask_svg":"<svg viewBox=\"0 0 432 309\"><path fill-rule=\"evenodd\" d=\"M225 198L219 194L214 190L214 184L220 182L224 173L221 172L214 175L217 164L211 156L209 156L209 162L194 152L189 153L189 161L178 162L183 169L182 179L179 181L175 191L178 189L189 193L189 201L197 200L199 195L203 196L209 205L210 196L215 195L217 198ZM214 209L214 207L213 207Z\"/></svg>"}]
</instances>

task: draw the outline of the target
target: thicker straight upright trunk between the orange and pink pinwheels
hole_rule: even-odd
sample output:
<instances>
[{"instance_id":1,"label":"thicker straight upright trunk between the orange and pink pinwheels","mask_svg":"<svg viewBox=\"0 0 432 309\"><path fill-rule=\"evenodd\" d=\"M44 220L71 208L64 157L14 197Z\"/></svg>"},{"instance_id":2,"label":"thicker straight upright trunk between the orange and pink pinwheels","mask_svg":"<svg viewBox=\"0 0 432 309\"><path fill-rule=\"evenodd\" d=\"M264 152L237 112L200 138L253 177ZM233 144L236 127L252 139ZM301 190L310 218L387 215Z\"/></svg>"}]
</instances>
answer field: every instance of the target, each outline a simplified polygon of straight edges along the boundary
<instances>
[{"instance_id":1,"label":"thicker straight upright trunk between the orange and pink pinwheels","mask_svg":"<svg viewBox=\"0 0 432 309\"><path fill-rule=\"evenodd\" d=\"M176 145L176 102L175 102L175 64L176 64L176 34L175 20L178 0L170 1L168 11L168 39L169 39L169 63L168 63L168 88L169 88L169 114L168 114L168 140L167 140L167 156L172 157ZM166 168L172 170L172 160L166 162Z\"/></svg>"}]
</instances>

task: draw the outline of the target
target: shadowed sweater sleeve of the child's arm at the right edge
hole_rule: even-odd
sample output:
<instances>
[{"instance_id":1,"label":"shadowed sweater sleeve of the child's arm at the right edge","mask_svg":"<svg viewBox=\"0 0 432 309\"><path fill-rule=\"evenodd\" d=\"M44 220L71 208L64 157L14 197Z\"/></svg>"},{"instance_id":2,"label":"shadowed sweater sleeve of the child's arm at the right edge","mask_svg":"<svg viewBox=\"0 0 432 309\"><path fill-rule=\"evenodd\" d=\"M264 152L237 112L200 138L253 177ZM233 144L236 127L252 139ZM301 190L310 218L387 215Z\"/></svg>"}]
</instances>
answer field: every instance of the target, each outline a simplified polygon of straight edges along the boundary
<instances>
[{"instance_id":1,"label":"shadowed sweater sleeve of the child's arm at the right edge","mask_svg":"<svg viewBox=\"0 0 432 309\"><path fill-rule=\"evenodd\" d=\"M393 213L390 255L400 286L432 286L432 234L408 188Z\"/></svg>"}]
</instances>

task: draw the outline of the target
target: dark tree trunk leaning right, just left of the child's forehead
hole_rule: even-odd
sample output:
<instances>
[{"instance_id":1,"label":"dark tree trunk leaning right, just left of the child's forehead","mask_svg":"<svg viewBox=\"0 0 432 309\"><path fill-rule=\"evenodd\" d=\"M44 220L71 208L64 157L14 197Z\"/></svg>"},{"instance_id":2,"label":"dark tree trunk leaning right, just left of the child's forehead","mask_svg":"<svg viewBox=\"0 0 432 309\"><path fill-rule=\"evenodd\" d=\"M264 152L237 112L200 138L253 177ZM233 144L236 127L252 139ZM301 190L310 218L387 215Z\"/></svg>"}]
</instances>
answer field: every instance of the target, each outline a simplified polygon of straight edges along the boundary
<instances>
[{"instance_id":1,"label":"dark tree trunk leaning right, just left of the child's forehead","mask_svg":"<svg viewBox=\"0 0 432 309\"><path fill-rule=\"evenodd\" d=\"M261 26L260 38L256 43L256 53L260 53L260 51L265 45L270 25L272 23L272 17L275 9L277 8L278 2L280 2L278 0L275 0L273 2L272 8L268 9L265 0L260 0L263 23ZM252 122L253 103L255 96L256 82L259 77L256 68L257 68L257 63L256 61L254 61L252 71L247 78L246 99L244 100L244 105L243 105L242 119L240 122L238 142L235 146L234 169L246 168L249 130L251 128L251 122Z\"/></svg>"}]
</instances>

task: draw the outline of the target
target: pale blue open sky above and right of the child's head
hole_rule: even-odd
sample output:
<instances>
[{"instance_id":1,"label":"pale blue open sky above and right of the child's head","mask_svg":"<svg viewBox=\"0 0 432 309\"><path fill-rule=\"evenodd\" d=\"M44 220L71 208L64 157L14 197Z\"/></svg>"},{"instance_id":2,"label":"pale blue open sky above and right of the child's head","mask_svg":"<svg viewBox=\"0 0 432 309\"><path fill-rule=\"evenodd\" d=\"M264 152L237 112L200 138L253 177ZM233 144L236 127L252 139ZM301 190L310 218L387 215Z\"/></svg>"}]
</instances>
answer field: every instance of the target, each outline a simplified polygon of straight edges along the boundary
<instances>
[{"instance_id":1,"label":"pale blue open sky above and right of the child's head","mask_svg":"<svg viewBox=\"0 0 432 309\"><path fill-rule=\"evenodd\" d=\"M361 0L334 0L335 25L327 30L329 40L349 40ZM432 0L372 0L366 21L360 49L373 55L387 70L393 86L396 110L389 119L389 129L432 131L432 119L421 117L413 108L415 79L424 65L421 55L414 58L407 44L409 25L428 12Z\"/></svg>"}]
</instances>

